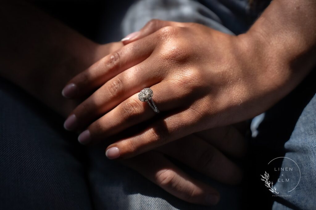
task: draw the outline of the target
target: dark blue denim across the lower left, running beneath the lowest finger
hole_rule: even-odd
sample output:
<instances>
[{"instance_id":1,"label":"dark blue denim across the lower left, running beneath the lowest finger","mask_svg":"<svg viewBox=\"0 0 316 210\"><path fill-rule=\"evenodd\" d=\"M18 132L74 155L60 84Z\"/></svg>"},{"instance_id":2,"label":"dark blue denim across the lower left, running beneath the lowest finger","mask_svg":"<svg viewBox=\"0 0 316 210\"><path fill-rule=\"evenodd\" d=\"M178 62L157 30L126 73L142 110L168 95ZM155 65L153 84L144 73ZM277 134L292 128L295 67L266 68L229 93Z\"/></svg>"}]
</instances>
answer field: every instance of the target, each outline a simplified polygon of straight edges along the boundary
<instances>
[{"instance_id":1,"label":"dark blue denim across the lower left, running beneath the lowest finger","mask_svg":"<svg viewBox=\"0 0 316 210\"><path fill-rule=\"evenodd\" d=\"M137 172L82 146L63 119L0 78L0 209L209 209L171 196ZM218 189L212 209L240 208L241 186L183 167Z\"/></svg>"}]
</instances>

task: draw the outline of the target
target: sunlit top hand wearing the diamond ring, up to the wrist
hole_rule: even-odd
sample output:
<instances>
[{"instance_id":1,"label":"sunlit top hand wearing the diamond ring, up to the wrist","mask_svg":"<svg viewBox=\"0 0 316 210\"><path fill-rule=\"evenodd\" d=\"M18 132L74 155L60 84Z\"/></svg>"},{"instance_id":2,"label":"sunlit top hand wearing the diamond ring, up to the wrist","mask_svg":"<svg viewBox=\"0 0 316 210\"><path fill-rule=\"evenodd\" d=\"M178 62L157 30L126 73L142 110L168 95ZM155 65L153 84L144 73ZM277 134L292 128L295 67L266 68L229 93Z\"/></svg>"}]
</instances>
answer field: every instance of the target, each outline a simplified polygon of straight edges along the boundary
<instances>
[{"instance_id":1,"label":"sunlit top hand wearing the diamond ring, up to the wrist","mask_svg":"<svg viewBox=\"0 0 316 210\"><path fill-rule=\"evenodd\" d=\"M82 144L148 122L140 133L109 145L110 159L136 156L191 133L251 118L289 91L283 63L268 68L266 54L246 35L159 20L142 31L154 32L99 60L68 84L76 87L77 97L97 89L65 123L70 130L91 123L79 135ZM275 69L279 71L272 74ZM154 92L159 117L138 99L145 87Z\"/></svg>"}]
</instances>

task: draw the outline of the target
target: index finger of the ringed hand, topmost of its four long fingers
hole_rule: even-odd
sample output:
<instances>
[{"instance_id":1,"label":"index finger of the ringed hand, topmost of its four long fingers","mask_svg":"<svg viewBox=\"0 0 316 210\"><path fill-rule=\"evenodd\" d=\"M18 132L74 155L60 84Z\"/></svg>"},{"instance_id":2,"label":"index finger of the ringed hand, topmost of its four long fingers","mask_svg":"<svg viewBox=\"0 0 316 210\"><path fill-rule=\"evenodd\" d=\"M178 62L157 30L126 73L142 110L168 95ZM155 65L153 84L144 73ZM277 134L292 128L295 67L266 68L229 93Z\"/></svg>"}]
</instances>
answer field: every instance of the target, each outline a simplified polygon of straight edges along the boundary
<instances>
[{"instance_id":1,"label":"index finger of the ringed hand, topmost of its four long fingers","mask_svg":"<svg viewBox=\"0 0 316 210\"><path fill-rule=\"evenodd\" d=\"M62 90L66 98L91 93L119 73L141 63L155 49L155 35L133 42L100 59L71 79ZM141 46L141 47L140 47Z\"/></svg>"}]
</instances>

